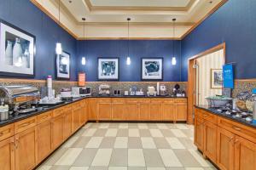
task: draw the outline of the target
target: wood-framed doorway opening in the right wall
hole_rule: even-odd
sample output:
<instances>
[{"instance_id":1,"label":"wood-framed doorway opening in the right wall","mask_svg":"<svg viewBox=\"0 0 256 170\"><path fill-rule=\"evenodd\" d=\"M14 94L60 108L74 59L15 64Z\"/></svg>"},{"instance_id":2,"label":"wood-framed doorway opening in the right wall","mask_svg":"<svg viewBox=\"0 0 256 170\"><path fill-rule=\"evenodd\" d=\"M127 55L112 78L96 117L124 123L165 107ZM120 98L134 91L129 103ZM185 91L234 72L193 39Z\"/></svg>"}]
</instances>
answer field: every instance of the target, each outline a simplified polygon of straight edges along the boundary
<instances>
[{"instance_id":1,"label":"wood-framed doorway opening in the right wall","mask_svg":"<svg viewBox=\"0 0 256 170\"><path fill-rule=\"evenodd\" d=\"M225 63L225 43L189 58L188 122L194 124L194 105L207 105L205 97L222 94L222 88L212 87L212 71Z\"/></svg>"}]
</instances>

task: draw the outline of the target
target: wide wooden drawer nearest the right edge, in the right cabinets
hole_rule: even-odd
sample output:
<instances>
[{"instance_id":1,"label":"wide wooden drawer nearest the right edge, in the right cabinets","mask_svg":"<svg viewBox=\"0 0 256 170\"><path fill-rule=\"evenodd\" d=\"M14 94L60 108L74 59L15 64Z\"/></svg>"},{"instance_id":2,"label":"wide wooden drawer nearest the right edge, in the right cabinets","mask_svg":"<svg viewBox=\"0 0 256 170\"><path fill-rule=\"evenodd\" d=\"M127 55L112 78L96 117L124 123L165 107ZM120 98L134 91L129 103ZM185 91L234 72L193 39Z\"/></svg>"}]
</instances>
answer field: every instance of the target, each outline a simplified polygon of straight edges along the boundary
<instances>
[{"instance_id":1,"label":"wide wooden drawer nearest the right edge, in the right cabinets","mask_svg":"<svg viewBox=\"0 0 256 170\"><path fill-rule=\"evenodd\" d=\"M218 116L218 126L256 143L256 129Z\"/></svg>"}]
</instances>

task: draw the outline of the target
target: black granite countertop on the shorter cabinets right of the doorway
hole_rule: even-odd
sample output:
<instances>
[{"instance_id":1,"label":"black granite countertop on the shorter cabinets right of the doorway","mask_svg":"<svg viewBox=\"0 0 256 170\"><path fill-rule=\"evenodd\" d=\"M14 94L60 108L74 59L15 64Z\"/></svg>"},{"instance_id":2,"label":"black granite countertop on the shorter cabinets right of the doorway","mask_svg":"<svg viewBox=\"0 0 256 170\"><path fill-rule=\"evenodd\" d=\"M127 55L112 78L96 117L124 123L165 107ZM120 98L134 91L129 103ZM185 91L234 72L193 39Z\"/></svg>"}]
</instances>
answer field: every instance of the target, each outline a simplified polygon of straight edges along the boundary
<instances>
[{"instance_id":1,"label":"black granite countertop on the shorter cabinets right of the doorway","mask_svg":"<svg viewBox=\"0 0 256 170\"><path fill-rule=\"evenodd\" d=\"M215 114L215 115L218 115L218 116L223 116L224 118L227 118L227 119L230 119L232 121L235 121L235 122L240 122L244 125L247 125L249 127L254 127L256 128L256 123L253 123L253 122L247 122L241 118L236 118L234 116L229 116L229 115L226 115L224 113L221 113L220 111L217 111L217 109L215 108L211 108L209 107L208 105L195 105L195 107L199 108L199 109L203 109L205 111L210 111L212 112L212 114Z\"/></svg>"}]
</instances>

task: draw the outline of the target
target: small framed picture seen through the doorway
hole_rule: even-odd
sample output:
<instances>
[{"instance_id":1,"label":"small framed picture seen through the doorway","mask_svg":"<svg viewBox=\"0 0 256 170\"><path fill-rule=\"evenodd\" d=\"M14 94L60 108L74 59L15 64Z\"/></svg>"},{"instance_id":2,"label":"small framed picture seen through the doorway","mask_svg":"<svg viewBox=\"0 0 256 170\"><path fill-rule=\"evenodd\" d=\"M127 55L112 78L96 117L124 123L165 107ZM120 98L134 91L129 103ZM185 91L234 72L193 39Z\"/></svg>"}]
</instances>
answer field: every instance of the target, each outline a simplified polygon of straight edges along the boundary
<instances>
[{"instance_id":1,"label":"small framed picture seen through the doorway","mask_svg":"<svg viewBox=\"0 0 256 170\"><path fill-rule=\"evenodd\" d=\"M211 69L211 88L222 88L223 70Z\"/></svg>"}]
</instances>

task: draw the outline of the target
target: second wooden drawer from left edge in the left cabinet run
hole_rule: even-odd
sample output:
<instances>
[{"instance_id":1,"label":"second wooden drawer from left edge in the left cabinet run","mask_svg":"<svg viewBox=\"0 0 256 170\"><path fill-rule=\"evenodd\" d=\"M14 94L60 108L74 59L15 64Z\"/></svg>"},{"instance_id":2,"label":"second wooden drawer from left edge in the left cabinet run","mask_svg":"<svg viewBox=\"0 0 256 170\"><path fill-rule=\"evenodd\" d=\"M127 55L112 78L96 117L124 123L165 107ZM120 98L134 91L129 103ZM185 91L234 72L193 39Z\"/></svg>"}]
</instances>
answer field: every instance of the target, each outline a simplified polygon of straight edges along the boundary
<instances>
[{"instance_id":1,"label":"second wooden drawer from left edge in the left cabinet run","mask_svg":"<svg viewBox=\"0 0 256 170\"><path fill-rule=\"evenodd\" d=\"M15 122L15 134L35 126L37 126L37 116L27 118L20 122Z\"/></svg>"}]
</instances>

